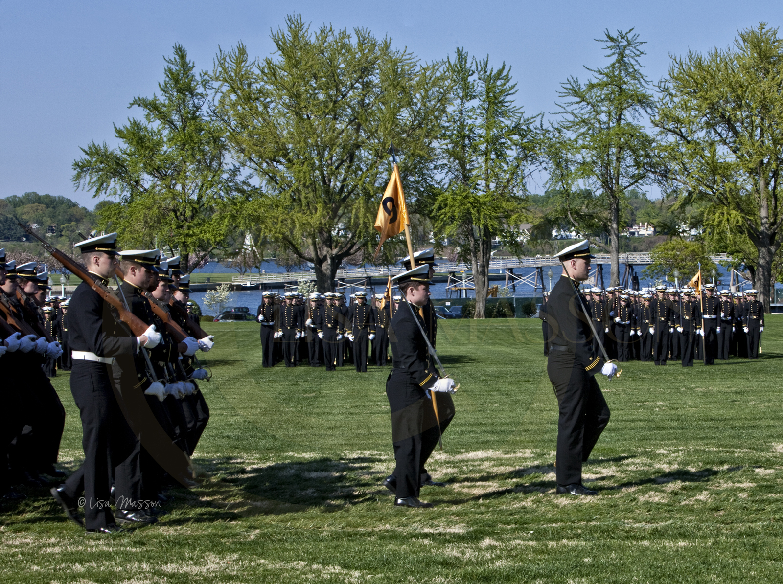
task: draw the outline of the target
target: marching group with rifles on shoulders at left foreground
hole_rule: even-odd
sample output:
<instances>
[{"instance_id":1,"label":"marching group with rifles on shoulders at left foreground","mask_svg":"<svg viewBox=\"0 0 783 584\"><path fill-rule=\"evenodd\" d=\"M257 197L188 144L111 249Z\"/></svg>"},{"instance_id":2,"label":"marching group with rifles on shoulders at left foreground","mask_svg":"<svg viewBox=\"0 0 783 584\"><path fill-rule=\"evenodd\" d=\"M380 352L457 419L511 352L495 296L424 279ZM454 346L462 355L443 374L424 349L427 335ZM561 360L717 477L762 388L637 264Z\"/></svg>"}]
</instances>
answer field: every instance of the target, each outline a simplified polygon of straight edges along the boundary
<instances>
[{"instance_id":1,"label":"marching group with rifles on shoulders at left foreground","mask_svg":"<svg viewBox=\"0 0 783 584\"><path fill-rule=\"evenodd\" d=\"M14 370L31 388L4 403L4 496L20 498L10 487L23 481L42 485L41 474L64 477L53 467L64 410L47 375L70 369L85 461L51 493L71 521L93 533L157 521L164 489L189 485L189 456L209 418L196 383L207 370L195 353L208 351L213 338L189 319L179 258L118 251L116 239L110 233L77 243L84 265L45 245L82 279L68 301L52 297L48 306L49 274L37 274L34 262L16 266L5 263L4 252L0 257L0 354L18 354L23 362ZM113 283L120 283L116 290ZM67 342L70 359L56 338Z\"/></svg>"}]
</instances>

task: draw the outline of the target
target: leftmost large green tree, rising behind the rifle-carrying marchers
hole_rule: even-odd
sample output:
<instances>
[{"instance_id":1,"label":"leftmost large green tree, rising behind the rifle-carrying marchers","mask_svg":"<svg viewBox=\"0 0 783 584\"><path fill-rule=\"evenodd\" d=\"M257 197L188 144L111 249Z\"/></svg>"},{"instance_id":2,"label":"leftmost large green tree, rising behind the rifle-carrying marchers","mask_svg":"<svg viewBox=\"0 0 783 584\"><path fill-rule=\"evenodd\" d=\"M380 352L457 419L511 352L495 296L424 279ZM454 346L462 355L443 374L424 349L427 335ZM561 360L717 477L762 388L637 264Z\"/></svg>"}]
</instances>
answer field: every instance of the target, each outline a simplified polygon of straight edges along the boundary
<instances>
[{"instance_id":1,"label":"leftmost large green tree, rising behind the rifle-carrying marchers","mask_svg":"<svg viewBox=\"0 0 783 584\"><path fill-rule=\"evenodd\" d=\"M144 119L114 125L117 148L90 142L74 161L74 186L109 196L103 225L124 246L163 247L193 269L231 233L221 211L226 200L251 189L228 164L225 128L208 110L207 74L198 74L182 45L165 58L161 96L136 97Z\"/></svg>"}]
</instances>

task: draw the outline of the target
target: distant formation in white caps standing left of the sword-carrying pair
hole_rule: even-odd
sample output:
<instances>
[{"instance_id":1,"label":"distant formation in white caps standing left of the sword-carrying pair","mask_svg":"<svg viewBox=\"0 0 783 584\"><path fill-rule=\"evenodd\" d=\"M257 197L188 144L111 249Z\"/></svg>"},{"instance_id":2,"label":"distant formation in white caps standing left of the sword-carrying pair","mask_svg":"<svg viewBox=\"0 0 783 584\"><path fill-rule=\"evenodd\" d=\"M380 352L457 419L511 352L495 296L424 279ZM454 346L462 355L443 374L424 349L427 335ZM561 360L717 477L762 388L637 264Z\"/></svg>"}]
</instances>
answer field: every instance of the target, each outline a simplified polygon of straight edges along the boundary
<instances>
[{"instance_id":1,"label":"distant formation in white caps standing left of the sword-carrying pair","mask_svg":"<svg viewBox=\"0 0 783 584\"><path fill-rule=\"evenodd\" d=\"M431 277L437 265L434 248L413 255L417 266L427 266ZM402 262L410 269L409 257ZM399 308L399 295L389 302L387 294L368 297L365 292L357 292L351 295L350 304L346 304L345 295L337 292L313 292L307 299L297 292L287 292L281 301L279 294L266 291L262 297L256 318L261 323L264 367L280 361L295 367L307 361L312 367L323 363L327 371L334 371L348 362L359 373L366 373L370 360L376 365L388 364L389 326ZM368 302L370 299L374 300L373 305ZM438 321L429 296L417 310L424 320L428 340L435 347Z\"/></svg>"}]
</instances>

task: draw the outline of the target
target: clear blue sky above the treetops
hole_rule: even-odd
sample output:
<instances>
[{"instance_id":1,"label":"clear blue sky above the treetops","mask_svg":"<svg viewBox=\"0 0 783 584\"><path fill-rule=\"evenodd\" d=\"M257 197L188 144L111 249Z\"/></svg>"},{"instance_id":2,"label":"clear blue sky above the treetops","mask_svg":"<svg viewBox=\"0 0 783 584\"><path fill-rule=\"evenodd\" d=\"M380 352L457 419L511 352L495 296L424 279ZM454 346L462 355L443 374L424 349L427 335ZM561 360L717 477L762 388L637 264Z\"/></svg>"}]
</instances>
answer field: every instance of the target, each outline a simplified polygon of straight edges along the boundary
<instances>
[{"instance_id":1,"label":"clear blue sky above the treetops","mask_svg":"<svg viewBox=\"0 0 783 584\"><path fill-rule=\"evenodd\" d=\"M635 27L648 41L651 79L666 74L669 54L731 44L738 29L777 27L777 2L68 2L0 1L0 196L26 191L69 196L70 165L90 140L114 145L113 123L134 96L151 96L164 55L180 42L197 67L211 68L218 45L244 41L251 55L272 51L269 31L289 13L314 27L366 27L388 34L424 60L463 46L505 61L528 114L554 111L559 83L586 78L604 63L593 39L608 28ZM536 185L531 185L536 189Z\"/></svg>"}]
</instances>

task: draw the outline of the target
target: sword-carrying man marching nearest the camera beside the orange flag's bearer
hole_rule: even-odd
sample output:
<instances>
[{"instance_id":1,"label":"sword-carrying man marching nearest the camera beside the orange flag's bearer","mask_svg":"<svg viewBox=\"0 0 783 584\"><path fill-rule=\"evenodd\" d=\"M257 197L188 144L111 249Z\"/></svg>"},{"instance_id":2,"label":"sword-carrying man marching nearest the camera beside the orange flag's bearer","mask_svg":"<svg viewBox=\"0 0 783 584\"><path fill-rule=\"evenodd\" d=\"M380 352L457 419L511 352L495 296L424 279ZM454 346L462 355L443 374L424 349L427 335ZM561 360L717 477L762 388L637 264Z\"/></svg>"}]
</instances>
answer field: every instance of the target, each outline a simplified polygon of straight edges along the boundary
<instances>
[{"instance_id":1,"label":"sword-carrying man marching nearest the camera beside the orange flag's bearer","mask_svg":"<svg viewBox=\"0 0 783 584\"><path fill-rule=\"evenodd\" d=\"M403 295L389 327L394 363L386 381L396 467L384 486L395 493L397 506L431 507L431 503L419 500L419 489L422 475L427 474L424 465L438 443L439 434L446 431L454 416L449 395L455 391L454 380L438 377L421 333L424 322L417 308L424 306L429 298L429 266L420 265L395 276L393 281ZM431 401L436 394L439 429ZM425 483L433 484L431 479Z\"/></svg>"}]
</instances>

